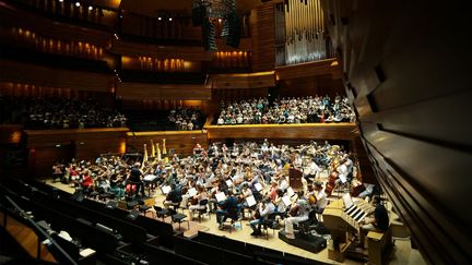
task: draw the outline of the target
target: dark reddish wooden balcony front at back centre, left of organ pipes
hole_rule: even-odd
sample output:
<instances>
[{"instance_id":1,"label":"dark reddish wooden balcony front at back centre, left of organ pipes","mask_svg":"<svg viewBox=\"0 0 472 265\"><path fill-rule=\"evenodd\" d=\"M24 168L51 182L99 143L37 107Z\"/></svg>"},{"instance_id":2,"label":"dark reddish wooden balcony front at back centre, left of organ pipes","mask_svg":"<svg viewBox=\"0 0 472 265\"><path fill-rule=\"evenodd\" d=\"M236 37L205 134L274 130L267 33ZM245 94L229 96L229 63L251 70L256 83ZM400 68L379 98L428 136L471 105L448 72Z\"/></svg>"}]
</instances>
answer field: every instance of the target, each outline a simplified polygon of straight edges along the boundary
<instances>
[{"instance_id":1,"label":"dark reddish wooden balcony front at back centre, left of organ pipes","mask_svg":"<svg viewBox=\"0 0 472 265\"><path fill-rule=\"evenodd\" d=\"M162 85L122 82L117 84L117 96L122 99L189 99L211 98L211 87L201 85Z\"/></svg>"}]
</instances>

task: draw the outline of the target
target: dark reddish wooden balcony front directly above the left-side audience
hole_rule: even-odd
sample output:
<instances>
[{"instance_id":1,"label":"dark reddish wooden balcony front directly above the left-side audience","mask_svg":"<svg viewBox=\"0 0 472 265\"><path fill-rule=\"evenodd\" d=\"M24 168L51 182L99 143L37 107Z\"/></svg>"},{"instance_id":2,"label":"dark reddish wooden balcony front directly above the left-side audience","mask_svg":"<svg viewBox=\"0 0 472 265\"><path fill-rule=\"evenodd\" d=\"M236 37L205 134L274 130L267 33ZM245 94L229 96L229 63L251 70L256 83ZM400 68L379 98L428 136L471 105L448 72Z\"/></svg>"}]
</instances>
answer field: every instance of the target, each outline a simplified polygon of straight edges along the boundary
<instances>
[{"instance_id":1,"label":"dark reddish wooden balcony front directly above the left-side audience","mask_svg":"<svg viewBox=\"0 0 472 265\"><path fill-rule=\"evenodd\" d=\"M0 60L0 82L78 91L111 92L115 76Z\"/></svg>"}]
</instances>

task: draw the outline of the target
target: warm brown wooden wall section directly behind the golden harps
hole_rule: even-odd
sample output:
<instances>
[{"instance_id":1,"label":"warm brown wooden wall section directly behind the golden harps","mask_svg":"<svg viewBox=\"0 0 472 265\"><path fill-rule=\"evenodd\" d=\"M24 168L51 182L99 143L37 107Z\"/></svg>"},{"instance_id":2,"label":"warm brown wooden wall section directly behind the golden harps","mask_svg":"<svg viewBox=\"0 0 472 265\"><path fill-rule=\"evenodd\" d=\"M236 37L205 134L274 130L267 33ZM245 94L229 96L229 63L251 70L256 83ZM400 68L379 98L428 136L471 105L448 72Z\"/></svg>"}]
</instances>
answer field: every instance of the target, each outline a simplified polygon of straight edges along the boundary
<instances>
[{"instance_id":1,"label":"warm brown wooden wall section directly behind the golden harps","mask_svg":"<svg viewBox=\"0 0 472 265\"><path fill-rule=\"evenodd\" d=\"M151 156L151 140L160 144L162 148L163 138L166 140L167 153L170 148L175 154L188 156L193 152L196 144L206 148L206 131L165 131L165 132L129 132L127 134L127 152L143 152L144 144L148 145L148 154Z\"/></svg>"}]
</instances>

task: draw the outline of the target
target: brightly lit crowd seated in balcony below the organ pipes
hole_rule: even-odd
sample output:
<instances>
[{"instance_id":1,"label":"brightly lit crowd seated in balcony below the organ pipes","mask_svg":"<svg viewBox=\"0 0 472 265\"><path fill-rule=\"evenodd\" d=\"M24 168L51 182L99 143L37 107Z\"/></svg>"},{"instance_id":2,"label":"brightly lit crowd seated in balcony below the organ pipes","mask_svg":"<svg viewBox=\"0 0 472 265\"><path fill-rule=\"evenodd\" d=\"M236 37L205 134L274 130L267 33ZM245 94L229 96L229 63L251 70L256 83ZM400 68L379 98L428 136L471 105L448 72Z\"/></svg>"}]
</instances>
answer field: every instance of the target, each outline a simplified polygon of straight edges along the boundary
<instances>
[{"instance_id":1,"label":"brightly lit crowd seated in balcony below the organ pipes","mask_svg":"<svg viewBox=\"0 0 472 265\"><path fill-rule=\"evenodd\" d=\"M219 125L280 124L312 122L353 122L354 112L347 98L315 96L276 99L272 105L268 98L240 100L221 105L216 120Z\"/></svg>"}]
</instances>

